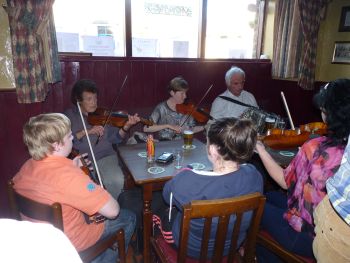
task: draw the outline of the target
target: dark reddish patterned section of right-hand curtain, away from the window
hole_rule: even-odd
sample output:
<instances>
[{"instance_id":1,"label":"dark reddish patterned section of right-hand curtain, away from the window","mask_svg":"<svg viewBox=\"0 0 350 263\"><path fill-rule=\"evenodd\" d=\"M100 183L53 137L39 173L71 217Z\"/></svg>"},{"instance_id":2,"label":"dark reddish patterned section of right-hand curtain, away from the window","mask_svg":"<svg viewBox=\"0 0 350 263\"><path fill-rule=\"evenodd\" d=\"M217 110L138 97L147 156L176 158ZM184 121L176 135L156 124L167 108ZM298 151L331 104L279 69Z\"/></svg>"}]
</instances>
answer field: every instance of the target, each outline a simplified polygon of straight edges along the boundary
<instances>
[{"instance_id":1,"label":"dark reddish patterned section of right-hand curtain, away from the window","mask_svg":"<svg viewBox=\"0 0 350 263\"><path fill-rule=\"evenodd\" d=\"M299 0L305 45L304 55L300 65L298 85L306 90L312 90L314 88L318 30L329 2L331 0Z\"/></svg>"}]
</instances>

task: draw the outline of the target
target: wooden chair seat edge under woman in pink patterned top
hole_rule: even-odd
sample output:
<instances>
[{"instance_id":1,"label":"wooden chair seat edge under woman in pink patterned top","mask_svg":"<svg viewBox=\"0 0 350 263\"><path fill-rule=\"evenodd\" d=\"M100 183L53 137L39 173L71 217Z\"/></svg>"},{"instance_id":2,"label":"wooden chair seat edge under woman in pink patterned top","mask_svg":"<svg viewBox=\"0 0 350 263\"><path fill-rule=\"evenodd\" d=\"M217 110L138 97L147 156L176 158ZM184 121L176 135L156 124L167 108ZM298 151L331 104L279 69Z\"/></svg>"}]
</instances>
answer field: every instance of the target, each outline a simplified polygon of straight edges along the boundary
<instances>
[{"instance_id":1,"label":"wooden chair seat edge under woman in pink patterned top","mask_svg":"<svg viewBox=\"0 0 350 263\"><path fill-rule=\"evenodd\" d=\"M268 232L264 230L259 231L257 236L257 243L270 250L272 253L280 257L283 261L288 263L316 262L314 258L302 257L286 250L276 240L274 240Z\"/></svg>"}]
</instances>

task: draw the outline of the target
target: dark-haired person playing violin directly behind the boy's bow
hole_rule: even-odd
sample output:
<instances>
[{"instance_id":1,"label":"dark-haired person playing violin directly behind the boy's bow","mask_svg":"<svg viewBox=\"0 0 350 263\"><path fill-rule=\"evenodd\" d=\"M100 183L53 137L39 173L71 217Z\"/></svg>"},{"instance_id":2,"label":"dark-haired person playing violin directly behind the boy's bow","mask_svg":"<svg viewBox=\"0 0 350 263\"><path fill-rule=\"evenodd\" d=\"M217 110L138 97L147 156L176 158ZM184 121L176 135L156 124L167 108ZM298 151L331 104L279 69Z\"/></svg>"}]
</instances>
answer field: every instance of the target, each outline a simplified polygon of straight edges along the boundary
<instances>
[{"instance_id":1,"label":"dark-haired person playing violin directly behind the boy's bow","mask_svg":"<svg viewBox=\"0 0 350 263\"><path fill-rule=\"evenodd\" d=\"M103 183L113 197L117 198L124 186L124 175L118 165L113 144L122 142L127 136L128 130L138 123L140 118L137 114L133 116L128 115L128 120L120 129L110 125L106 125L105 127L101 125L90 125L87 117L89 113L93 113L97 109L97 94L98 89L95 82L88 79L81 79L73 86L71 101L74 105L79 102ZM78 107L75 106L66 110L65 115L67 115L72 123L74 148L80 153L89 153L91 157L92 154Z\"/></svg>"}]
</instances>

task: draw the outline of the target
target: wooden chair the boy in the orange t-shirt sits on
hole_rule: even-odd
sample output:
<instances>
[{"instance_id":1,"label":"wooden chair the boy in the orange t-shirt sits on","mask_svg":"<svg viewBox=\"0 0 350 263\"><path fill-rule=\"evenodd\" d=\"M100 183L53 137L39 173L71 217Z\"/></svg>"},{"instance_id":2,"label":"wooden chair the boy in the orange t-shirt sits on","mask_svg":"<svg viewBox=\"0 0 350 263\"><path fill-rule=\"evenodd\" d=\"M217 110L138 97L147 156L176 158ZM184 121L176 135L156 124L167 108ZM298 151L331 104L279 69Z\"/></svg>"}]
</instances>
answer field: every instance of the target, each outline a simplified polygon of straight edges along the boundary
<instances>
[{"instance_id":1,"label":"wooden chair the boy in the orange t-shirt sits on","mask_svg":"<svg viewBox=\"0 0 350 263\"><path fill-rule=\"evenodd\" d=\"M8 181L7 192L10 202L12 218L22 220L21 215L46 221L63 231L62 207L59 203L46 205L24 197L15 191L12 180ZM118 244L119 262L126 262L124 230L119 229L115 234L100 240L95 245L79 253L83 262L90 262L108 248ZM118 262L118 261L117 261Z\"/></svg>"}]
</instances>

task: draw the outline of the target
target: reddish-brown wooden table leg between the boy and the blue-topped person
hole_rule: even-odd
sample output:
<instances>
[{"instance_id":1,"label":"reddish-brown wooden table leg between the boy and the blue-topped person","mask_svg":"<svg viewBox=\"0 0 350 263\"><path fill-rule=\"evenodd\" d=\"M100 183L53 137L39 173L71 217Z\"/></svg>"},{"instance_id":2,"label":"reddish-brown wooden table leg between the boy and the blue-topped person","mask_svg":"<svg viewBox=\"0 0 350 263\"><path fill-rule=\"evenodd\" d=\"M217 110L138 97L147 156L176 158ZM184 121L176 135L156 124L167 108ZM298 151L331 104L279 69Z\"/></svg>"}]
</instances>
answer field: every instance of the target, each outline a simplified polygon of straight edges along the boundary
<instances>
[{"instance_id":1,"label":"reddish-brown wooden table leg between the boy and the blue-topped person","mask_svg":"<svg viewBox=\"0 0 350 263\"><path fill-rule=\"evenodd\" d=\"M151 262L150 237L152 234L152 184L144 184L143 191L143 260Z\"/></svg>"}]
</instances>

